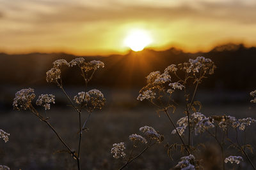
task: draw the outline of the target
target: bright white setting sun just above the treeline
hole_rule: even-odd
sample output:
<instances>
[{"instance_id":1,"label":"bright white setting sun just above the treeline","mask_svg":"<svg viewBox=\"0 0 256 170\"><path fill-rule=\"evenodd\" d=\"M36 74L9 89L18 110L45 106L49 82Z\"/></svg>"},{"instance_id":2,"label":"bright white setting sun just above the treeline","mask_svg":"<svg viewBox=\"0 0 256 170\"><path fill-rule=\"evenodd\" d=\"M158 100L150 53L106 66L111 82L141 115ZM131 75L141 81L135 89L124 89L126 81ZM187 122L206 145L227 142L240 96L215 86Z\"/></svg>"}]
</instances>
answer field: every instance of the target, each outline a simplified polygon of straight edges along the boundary
<instances>
[{"instance_id":1,"label":"bright white setting sun just above the treeline","mask_svg":"<svg viewBox=\"0 0 256 170\"><path fill-rule=\"evenodd\" d=\"M127 34L127 37L124 39L124 45L131 48L131 50L138 52L152 43L152 39L147 31L142 29L132 30Z\"/></svg>"}]
</instances>

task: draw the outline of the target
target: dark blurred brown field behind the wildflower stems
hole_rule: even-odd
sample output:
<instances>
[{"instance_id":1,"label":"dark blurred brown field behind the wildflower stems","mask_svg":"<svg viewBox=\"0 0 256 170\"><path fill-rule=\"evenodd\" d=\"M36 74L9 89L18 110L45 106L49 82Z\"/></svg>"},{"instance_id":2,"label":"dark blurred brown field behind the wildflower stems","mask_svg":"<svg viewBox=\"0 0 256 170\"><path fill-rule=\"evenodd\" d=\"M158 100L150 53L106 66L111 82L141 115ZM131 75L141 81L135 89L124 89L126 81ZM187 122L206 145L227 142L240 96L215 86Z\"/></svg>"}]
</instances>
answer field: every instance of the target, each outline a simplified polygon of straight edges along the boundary
<instances>
[{"instance_id":1,"label":"dark blurred brown field behind the wildflower stems","mask_svg":"<svg viewBox=\"0 0 256 170\"><path fill-rule=\"evenodd\" d=\"M121 94L120 92L116 93ZM158 117L155 108L147 104L139 104L136 100L132 103L120 100L118 104L118 99L115 99L113 94L115 93L111 93L112 97L109 97L111 96L110 93L107 94L107 99L109 97L108 106L103 111L93 113L88 122L89 131L83 133L82 169L118 169L123 162L122 160L113 159L109 152L112 144L124 142L128 144L128 149L131 148L132 145L129 143L128 136L132 133L140 133L138 129L143 125L150 125L164 134L164 142L150 148L127 169L170 169L175 166L182 155L173 152L174 160L172 161L166 153L166 148L164 148L166 143L179 142L177 136L170 133L173 127L170 127L166 116ZM120 99L125 98L124 95L125 93L123 97L121 95ZM127 96L129 95L133 96L132 93L127 94ZM201 95L200 98L203 100L204 95ZM58 101L56 102L58 103ZM254 117L256 111L256 107L252 107L253 104L250 103L221 104L214 102L211 104L211 102L207 102L207 104L204 104L204 101L202 101L202 104L202 113L205 115L227 114L242 118ZM184 113L182 113L183 106L180 105L178 108L176 113L172 114L175 121L184 116ZM11 169L76 169L76 162L70 158L68 153L54 153L64 148L46 124L40 122L28 111L6 110L1 112L0 128L10 133L8 143L0 142L1 164L9 166ZM83 119L86 118L86 114L83 114ZM57 105L52 106L47 116L50 117L50 122L56 128L56 131L60 132L70 147L76 150L75 146L77 146L78 138L76 112L68 106L60 107ZM247 141L253 145L253 148L256 144L255 129L256 126L252 125L250 131L246 132ZM205 141L205 138L196 136L195 142L199 141ZM218 162L218 157L220 157L218 156L220 154L219 148L213 144L214 140L211 137L207 141L207 149L200 153L200 158L204 159L207 164L206 169L218 169L220 166ZM142 148L139 149L142 150ZM229 153L226 153L226 156L229 155ZM256 162L256 157L253 157L253 155L251 157L253 162ZM250 168L247 160L239 166L239 169Z\"/></svg>"}]
</instances>

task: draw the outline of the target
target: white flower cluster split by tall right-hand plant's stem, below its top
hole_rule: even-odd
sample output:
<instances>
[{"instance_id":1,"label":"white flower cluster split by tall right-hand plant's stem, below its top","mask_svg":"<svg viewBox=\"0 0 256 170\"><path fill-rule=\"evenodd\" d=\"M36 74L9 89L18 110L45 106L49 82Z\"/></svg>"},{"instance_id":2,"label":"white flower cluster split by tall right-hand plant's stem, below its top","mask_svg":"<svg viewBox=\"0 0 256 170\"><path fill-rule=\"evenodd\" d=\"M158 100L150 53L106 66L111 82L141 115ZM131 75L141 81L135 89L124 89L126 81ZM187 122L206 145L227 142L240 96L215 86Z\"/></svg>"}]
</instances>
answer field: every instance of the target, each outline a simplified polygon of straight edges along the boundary
<instances>
[{"instance_id":1,"label":"white flower cluster split by tall right-hand plant's stem, below its top","mask_svg":"<svg viewBox=\"0 0 256 170\"><path fill-rule=\"evenodd\" d=\"M191 126L195 130L195 134L201 134L205 132L206 129L214 127L214 124L212 124L212 120L210 118L205 117L202 113L196 112L193 113L190 116L189 122ZM186 127L188 127L188 117L182 117L177 121L177 125L179 127L176 127L177 131L179 132L180 135L184 134ZM176 130L174 129L172 131L172 134L175 134Z\"/></svg>"}]
</instances>

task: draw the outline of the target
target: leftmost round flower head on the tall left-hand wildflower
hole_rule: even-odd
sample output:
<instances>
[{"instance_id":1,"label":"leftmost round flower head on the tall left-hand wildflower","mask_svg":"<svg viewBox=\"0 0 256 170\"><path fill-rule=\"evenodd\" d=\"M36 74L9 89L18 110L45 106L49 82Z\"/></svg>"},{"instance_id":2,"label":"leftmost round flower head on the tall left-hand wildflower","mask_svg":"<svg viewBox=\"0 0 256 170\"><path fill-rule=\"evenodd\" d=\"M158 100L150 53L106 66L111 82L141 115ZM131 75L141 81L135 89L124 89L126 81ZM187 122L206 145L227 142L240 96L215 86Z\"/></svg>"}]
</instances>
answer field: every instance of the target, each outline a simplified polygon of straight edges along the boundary
<instances>
[{"instance_id":1,"label":"leftmost round flower head on the tall left-hand wildflower","mask_svg":"<svg viewBox=\"0 0 256 170\"><path fill-rule=\"evenodd\" d=\"M31 101L35 99L34 89L22 89L16 92L15 98L13 99L13 109L15 110L27 110Z\"/></svg>"}]
</instances>

